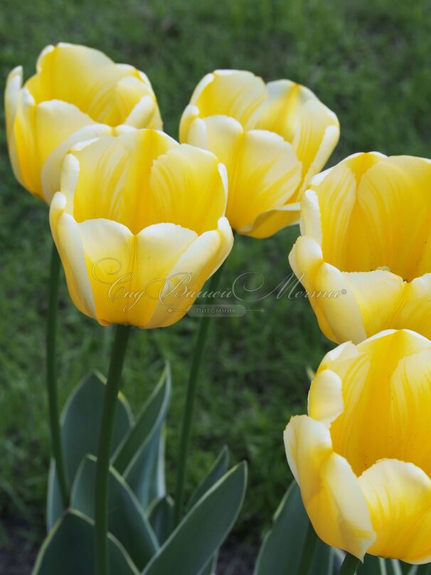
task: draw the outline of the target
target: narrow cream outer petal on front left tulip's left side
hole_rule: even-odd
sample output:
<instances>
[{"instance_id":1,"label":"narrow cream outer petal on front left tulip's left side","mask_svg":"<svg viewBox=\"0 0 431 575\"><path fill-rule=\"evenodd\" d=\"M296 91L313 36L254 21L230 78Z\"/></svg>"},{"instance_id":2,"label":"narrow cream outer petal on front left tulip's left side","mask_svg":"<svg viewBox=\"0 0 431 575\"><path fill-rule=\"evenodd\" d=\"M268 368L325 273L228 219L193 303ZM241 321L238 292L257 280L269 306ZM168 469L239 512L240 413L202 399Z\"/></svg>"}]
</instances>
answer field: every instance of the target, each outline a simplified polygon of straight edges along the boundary
<instances>
[{"instance_id":1,"label":"narrow cream outer petal on front left tulip's left side","mask_svg":"<svg viewBox=\"0 0 431 575\"><path fill-rule=\"evenodd\" d=\"M85 265L83 244L78 224L65 213L66 198L57 192L50 204L50 228L65 270L68 290L78 310L96 317L95 302Z\"/></svg>"}]
</instances>

